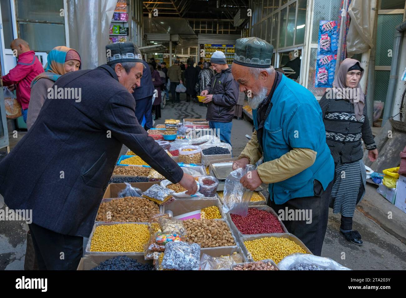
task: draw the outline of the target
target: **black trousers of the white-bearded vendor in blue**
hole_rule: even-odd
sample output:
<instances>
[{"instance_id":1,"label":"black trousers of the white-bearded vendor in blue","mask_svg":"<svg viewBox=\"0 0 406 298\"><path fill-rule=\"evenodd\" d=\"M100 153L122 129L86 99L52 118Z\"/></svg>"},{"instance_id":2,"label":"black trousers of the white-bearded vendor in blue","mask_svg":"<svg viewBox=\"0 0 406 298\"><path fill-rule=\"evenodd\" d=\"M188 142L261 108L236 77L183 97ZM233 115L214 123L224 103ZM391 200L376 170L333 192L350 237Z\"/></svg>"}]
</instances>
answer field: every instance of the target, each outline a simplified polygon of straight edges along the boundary
<instances>
[{"instance_id":1,"label":"black trousers of the white-bearded vendor in blue","mask_svg":"<svg viewBox=\"0 0 406 298\"><path fill-rule=\"evenodd\" d=\"M294 220L283 220L283 224L288 232L298 237L314 255L320 256L322 253L327 230L331 187L333 187L333 181L324 191L322 184L315 180L313 197L298 197L281 205L275 204L268 198L268 206L273 208L278 215L281 214L279 210L286 213L286 207L288 210L309 210L309 214L311 210L311 223L307 223L306 219L299 221L295 218Z\"/></svg>"}]
</instances>

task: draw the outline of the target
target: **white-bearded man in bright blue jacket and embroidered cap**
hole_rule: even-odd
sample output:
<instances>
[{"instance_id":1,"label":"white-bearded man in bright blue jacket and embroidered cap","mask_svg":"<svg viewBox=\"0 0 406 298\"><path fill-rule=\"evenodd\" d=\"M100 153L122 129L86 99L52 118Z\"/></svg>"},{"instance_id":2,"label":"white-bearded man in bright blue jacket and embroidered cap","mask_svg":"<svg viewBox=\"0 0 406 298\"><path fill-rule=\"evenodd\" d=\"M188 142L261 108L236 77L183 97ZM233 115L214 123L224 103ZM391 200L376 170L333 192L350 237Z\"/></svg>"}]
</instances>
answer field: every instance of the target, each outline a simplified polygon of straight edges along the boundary
<instances>
[{"instance_id":1,"label":"white-bearded man in bright blue jacket and embroidered cap","mask_svg":"<svg viewBox=\"0 0 406 298\"><path fill-rule=\"evenodd\" d=\"M303 86L271 66L273 46L257 37L237 39L232 65L253 109L255 131L233 168L263 163L240 182L255 190L269 183L270 205L289 233L320 255L328 221L334 161L322 111Z\"/></svg>"}]
</instances>

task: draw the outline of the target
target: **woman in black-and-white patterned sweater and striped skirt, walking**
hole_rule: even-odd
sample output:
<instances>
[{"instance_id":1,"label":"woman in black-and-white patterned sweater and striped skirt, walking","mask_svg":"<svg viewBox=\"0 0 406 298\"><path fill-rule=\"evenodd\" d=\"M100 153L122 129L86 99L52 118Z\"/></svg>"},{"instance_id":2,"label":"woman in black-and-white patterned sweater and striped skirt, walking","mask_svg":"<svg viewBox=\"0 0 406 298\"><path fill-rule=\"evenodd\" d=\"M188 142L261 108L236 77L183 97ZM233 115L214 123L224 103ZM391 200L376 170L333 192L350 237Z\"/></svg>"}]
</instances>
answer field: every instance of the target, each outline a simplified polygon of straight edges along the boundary
<instances>
[{"instance_id":1,"label":"woman in black-and-white patterned sweater and striped skirt, walking","mask_svg":"<svg viewBox=\"0 0 406 298\"><path fill-rule=\"evenodd\" d=\"M369 150L369 159L375 161L378 157L365 96L359 84L363 73L357 60L345 59L333 88L328 88L319 102L326 128L326 143L335 163L330 208L335 214L341 213L340 232L357 245L362 245L362 240L358 231L352 230L352 217L356 204L365 194L366 180L361 138Z\"/></svg>"}]
</instances>

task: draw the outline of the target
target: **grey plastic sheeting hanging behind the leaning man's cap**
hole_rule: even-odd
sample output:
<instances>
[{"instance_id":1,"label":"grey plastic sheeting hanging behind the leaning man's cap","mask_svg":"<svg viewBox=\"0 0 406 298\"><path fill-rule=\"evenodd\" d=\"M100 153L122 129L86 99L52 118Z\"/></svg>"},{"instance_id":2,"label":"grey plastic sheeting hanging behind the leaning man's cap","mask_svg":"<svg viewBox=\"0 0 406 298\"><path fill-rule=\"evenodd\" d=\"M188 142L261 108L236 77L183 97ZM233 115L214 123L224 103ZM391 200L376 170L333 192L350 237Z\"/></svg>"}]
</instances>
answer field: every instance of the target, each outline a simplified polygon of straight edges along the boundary
<instances>
[{"instance_id":1,"label":"grey plastic sheeting hanging behind the leaning man's cap","mask_svg":"<svg viewBox=\"0 0 406 298\"><path fill-rule=\"evenodd\" d=\"M82 59L82 69L106 63L110 22L117 0L68 1L69 47Z\"/></svg>"}]
</instances>

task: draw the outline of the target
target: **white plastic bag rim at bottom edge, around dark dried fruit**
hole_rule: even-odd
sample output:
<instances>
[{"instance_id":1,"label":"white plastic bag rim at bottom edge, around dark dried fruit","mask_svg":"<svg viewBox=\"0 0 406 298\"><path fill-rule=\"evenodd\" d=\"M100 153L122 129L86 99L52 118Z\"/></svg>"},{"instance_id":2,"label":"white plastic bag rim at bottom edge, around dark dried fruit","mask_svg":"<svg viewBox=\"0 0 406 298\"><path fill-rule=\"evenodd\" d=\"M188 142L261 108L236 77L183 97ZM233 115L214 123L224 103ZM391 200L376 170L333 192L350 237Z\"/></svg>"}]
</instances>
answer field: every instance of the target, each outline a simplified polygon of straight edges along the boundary
<instances>
[{"instance_id":1,"label":"white plastic bag rim at bottom edge, around dark dried fruit","mask_svg":"<svg viewBox=\"0 0 406 298\"><path fill-rule=\"evenodd\" d=\"M331 270L351 270L343 265L335 262L328 257L319 257L317 255L310 255L307 253L292 253L284 257L281 262L278 263L279 270L289 270L290 268L299 264L316 265L322 268L329 268Z\"/></svg>"}]
</instances>

